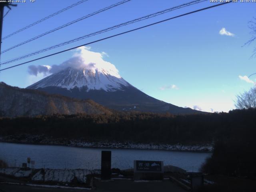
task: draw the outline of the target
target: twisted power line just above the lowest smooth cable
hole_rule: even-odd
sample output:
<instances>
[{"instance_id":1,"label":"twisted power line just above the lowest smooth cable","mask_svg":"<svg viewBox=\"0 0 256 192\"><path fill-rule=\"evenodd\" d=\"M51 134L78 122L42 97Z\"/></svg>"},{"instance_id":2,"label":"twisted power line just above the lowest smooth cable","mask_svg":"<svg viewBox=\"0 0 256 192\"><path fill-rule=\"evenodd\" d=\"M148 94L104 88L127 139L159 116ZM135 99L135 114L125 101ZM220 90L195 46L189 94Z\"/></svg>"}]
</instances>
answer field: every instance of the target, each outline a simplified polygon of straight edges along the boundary
<instances>
[{"instance_id":1,"label":"twisted power line just above the lowest smooth cable","mask_svg":"<svg viewBox=\"0 0 256 192\"><path fill-rule=\"evenodd\" d=\"M89 37L91 37L91 36L95 36L95 35L98 35L98 34L102 34L102 33L104 33L104 32L108 32L108 31L114 30L114 29L116 29L116 28L120 28L120 27L122 27L122 26L126 26L126 25L129 25L129 24L132 24L132 23L135 23L135 22L139 22L139 21L142 21L142 20L146 20L146 19L149 19L149 18L158 16L158 15L160 15L160 14L164 14L164 13L167 13L167 12L170 12L170 11L173 11L173 10L176 10L176 9L184 8L184 7L186 7L186 6L191 6L191 5L193 5L193 4L201 3L201 2L204 2L204 1L207 1L207 0L194 0L194 1L189 2L189 3L186 3L186 4L182 4L182 5L175 6L175 7L166 9L166 10L162 10L162 11L159 11L159 12L156 12L156 13L153 13L153 14L150 14L150 15L146 15L146 16L143 16L143 17L134 19L134 20L130 20L130 21L128 21L128 22L124 22L124 23L121 23L121 24L118 24L118 25L115 25L115 26L106 28L106 29L104 29L104 30L100 30L100 31L98 31L98 32L94 32L94 33L91 33L91 34L87 34L87 35L81 36L81 37L79 37L79 38L75 38L75 39L72 39L72 40L69 40L69 41L66 41L66 42L63 42L63 43L54 45L54 46L50 46L50 47L48 47L48 48L44 48L44 49L42 49L42 50L38 50L38 51L36 51L36 52L32 52L32 53L26 54L26 55L20 56L20 57L18 57L18 58L13 58L13 59L11 59L11 60L7 60L7 61L3 62L2 64L12 63L12 62L15 62L15 61L17 61L17 60L21 60L21 59L24 59L24 58L27 58L27 57L30 57L30 56L33 56L33 55L36 55L36 54L40 54L40 53L42 53L42 52L46 52L46 51L48 51L48 50L52 50L52 49L54 49L54 48L58 48L58 47L60 47L60 46L64 46L64 45L67 45L67 44L70 44L70 43L73 43L73 42L76 42L76 41L79 41L79 40L82 40L82 39L85 39L85 38L89 38Z\"/></svg>"}]
</instances>

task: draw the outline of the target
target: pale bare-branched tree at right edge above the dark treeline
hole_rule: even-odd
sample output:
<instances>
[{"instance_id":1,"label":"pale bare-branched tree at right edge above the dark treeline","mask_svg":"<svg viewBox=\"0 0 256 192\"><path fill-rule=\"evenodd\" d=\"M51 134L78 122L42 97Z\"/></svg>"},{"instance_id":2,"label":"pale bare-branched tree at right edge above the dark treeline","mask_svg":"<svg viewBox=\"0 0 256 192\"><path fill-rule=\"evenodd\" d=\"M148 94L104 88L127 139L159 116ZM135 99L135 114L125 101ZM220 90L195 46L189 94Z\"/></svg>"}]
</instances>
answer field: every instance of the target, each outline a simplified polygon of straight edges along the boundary
<instances>
[{"instance_id":1,"label":"pale bare-branched tree at right edge above the dark treeline","mask_svg":"<svg viewBox=\"0 0 256 192\"><path fill-rule=\"evenodd\" d=\"M237 109L256 108L256 86L236 96L236 98L235 107Z\"/></svg>"}]
</instances>

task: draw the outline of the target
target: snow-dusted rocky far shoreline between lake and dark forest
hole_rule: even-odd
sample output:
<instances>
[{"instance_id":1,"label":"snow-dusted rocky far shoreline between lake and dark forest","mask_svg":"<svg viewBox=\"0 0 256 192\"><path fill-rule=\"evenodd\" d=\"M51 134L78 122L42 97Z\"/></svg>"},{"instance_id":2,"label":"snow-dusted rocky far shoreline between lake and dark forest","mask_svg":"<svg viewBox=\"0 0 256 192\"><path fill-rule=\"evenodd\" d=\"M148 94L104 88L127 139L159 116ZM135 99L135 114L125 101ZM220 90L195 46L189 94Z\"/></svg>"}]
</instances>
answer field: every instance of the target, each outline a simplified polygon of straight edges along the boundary
<instances>
[{"instance_id":1,"label":"snow-dusted rocky far shoreline between lake and dark forest","mask_svg":"<svg viewBox=\"0 0 256 192\"><path fill-rule=\"evenodd\" d=\"M140 149L140 150L168 150L184 152L212 152L212 144L182 145L182 144L145 144L134 142L91 142L83 139L63 139L52 138L45 135L20 135L20 136L0 136L0 142L21 143L21 144L41 144L41 145L62 145L84 148L111 148L111 149Z\"/></svg>"}]
</instances>

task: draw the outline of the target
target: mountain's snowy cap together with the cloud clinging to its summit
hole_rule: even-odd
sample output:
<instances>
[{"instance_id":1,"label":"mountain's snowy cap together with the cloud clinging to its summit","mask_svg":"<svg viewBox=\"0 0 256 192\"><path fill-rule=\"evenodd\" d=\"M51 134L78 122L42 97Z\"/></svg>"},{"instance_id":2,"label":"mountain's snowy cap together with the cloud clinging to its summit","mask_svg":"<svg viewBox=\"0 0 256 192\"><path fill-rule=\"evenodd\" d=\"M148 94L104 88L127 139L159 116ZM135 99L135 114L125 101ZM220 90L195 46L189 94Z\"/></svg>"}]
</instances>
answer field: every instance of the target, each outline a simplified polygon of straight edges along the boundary
<instances>
[{"instance_id":1,"label":"mountain's snowy cap together with the cloud clinging to its summit","mask_svg":"<svg viewBox=\"0 0 256 192\"><path fill-rule=\"evenodd\" d=\"M30 66L30 74L37 75L39 69L46 78L30 85L30 89L57 86L71 90L75 87L83 90L122 90L122 86L130 86L120 75L117 68L103 60L103 55L90 51L88 47L78 48L72 58L59 65ZM85 89L84 89L85 88ZM87 89L86 89L87 88Z\"/></svg>"}]
</instances>

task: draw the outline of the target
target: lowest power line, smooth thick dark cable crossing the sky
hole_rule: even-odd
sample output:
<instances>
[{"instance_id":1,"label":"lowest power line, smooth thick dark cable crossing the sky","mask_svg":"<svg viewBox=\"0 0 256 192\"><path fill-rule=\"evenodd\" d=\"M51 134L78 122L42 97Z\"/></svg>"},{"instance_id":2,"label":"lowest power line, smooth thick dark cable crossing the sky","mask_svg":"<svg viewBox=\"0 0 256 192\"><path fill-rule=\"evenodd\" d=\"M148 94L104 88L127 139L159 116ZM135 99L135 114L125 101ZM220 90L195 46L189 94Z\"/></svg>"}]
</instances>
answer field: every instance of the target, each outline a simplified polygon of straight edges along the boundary
<instances>
[{"instance_id":1,"label":"lowest power line, smooth thick dark cable crossing the sky","mask_svg":"<svg viewBox=\"0 0 256 192\"><path fill-rule=\"evenodd\" d=\"M145 25L145 26L142 26L142 27L139 27L139 28L135 28L135 29L132 29L132 30L129 30L129 31L126 31L126 32L122 32L122 33L118 33L118 34L115 34L115 35L112 35L112 36L108 36L106 38L102 38L102 39L99 39L99 40L96 40L96 41L93 41L93 42L89 42L89 43L86 43L86 44L75 46L75 47L72 47L72 48L69 48L69 49L66 49L66 50L62 50L60 52L56 52L56 53L53 53L53 54L50 54L50 55L46 55L46 56L43 56L43 57L40 57L40 58L36 58L36 59L30 60L30 61L27 61L27 62L24 62L24 63L20 63L20 64L17 64L17 65L14 65L14 66L10 66L10 67L1 69L0 71L7 70L7 69L10 69L10 68L14 68L16 66L20 66L20 65L27 64L27 63L30 63L30 62L33 62L33 61L36 61L36 60L40 60L40 59L43 59L43 58L46 58L46 57L50 57L50 56L53 56L53 55L56 55L56 54L60 54L60 53L63 53L63 52L66 52L66 51L69 51L69 50L72 50L72 49L75 49L75 48L78 48L78 47L81 47L81 46L86 46L86 45L89 45L89 44L100 42L100 41L103 41L103 40L106 40L106 39L109 39L109 38L112 38L112 37L120 36L122 34L126 34L126 33L129 33L129 32L132 32L132 31L136 31L136 30L146 28L146 27L149 27L149 26L152 26L152 25L156 25L156 24L159 24L159 23L162 23L162 22L166 22L168 20L172 20L172 19L175 19L175 18L179 18L179 17L182 17L182 16L186 16L186 15L189 15L189 14L193 14L193 13L196 13L196 12L200 12L200 11L203 11L203 10L206 10L206 9L214 8L214 7L221 6L221 5L228 4L228 3L231 3L231 1L230 2L224 2L224 3L221 3L221 4L216 4L216 5L209 6L209 7L202 8L202 9L198 9L198 10L188 12L188 13L185 13L185 14L181 14L181 15L178 15L178 16L175 16L175 17L172 17L172 18L168 18L168 19L161 20L161 21L158 21L158 22L155 22L155 23L152 23L152 24L148 24L148 25Z\"/></svg>"}]
</instances>

